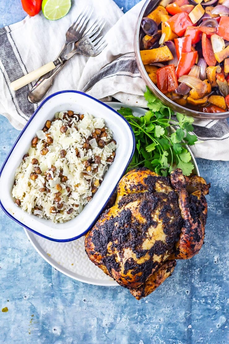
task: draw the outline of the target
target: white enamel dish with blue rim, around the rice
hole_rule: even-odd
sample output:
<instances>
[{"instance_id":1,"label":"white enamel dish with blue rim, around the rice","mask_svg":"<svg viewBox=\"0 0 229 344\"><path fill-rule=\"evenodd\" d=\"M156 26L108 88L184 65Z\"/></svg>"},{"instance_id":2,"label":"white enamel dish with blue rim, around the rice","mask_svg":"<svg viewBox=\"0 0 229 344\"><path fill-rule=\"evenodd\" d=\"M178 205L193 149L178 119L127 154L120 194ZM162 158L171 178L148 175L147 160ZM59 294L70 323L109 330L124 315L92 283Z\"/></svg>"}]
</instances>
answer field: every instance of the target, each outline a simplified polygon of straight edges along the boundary
<instances>
[{"instance_id":1,"label":"white enamel dish with blue rim, around the rice","mask_svg":"<svg viewBox=\"0 0 229 344\"><path fill-rule=\"evenodd\" d=\"M11 192L15 170L31 146L36 131L44 127L46 120L52 120L55 112L62 110L73 110L81 114L88 112L94 117L103 118L106 126L113 131L118 148L114 162L105 173L98 192L83 211L68 222L54 224L50 220L24 212L14 203ZM135 139L130 125L110 106L81 92L57 92L46 98L38 107L8 154L0 171L0 206L18 224L46 239L54 241L78 239L93 226L105 208L133 156L134 149Z\"/></svg>"}]
</instances>

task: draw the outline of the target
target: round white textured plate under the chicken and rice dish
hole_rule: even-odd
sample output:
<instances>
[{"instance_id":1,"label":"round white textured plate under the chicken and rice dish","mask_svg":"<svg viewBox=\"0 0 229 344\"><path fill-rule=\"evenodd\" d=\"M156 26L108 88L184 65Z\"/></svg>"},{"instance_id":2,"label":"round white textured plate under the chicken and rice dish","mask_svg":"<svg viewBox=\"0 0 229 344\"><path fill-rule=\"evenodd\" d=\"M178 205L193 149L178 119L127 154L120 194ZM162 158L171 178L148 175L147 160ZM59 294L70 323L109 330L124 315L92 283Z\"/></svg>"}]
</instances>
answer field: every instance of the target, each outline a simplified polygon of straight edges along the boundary
<instances>
[{"instance_id":1,"label":"round white textured plate under the chicken and rice dish","mask_svg":"<svg viewBox=\"0 0 229 344\"><path fill-rule=\"evenodd\" d=\"M115 110L121 106L125 106L122 103L116 102L109 102L108 104ZM142 116L146 112L142 108L132 109L134 110L135 116ZM188 147L187 149L190 151ZM195 173L199 175L195 158L191 151L190 153L195 166ZM84 249L84 237L70 241L69 243L56 243L35 235L26 229L25 233L39 255L51 266L64 273L64 275L77 281L95 284L97 286L119 286L118 283L105 275L100 268L90 261Z\"/></svg>"}]
</instances>

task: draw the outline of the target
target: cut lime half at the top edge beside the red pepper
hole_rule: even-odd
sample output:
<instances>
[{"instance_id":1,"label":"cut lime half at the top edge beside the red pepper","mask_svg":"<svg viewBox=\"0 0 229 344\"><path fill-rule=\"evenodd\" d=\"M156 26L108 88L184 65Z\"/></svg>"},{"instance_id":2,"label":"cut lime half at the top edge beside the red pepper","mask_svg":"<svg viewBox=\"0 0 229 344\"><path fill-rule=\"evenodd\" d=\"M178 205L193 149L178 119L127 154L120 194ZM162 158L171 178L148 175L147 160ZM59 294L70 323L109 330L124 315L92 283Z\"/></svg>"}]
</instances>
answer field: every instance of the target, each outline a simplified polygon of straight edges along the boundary
<instances>
[{"instance_id":1,"label":"cut lime half at the top edge beside the red pepper","mask_svg":"<svg viewBox=\"0 0 229 344\"><path fill-rule=\"evenodd\" d=\"M56 20L64 17L71 8L71 0L43 0L42 11L45 18Z\"/></svg>"}]
</instances>

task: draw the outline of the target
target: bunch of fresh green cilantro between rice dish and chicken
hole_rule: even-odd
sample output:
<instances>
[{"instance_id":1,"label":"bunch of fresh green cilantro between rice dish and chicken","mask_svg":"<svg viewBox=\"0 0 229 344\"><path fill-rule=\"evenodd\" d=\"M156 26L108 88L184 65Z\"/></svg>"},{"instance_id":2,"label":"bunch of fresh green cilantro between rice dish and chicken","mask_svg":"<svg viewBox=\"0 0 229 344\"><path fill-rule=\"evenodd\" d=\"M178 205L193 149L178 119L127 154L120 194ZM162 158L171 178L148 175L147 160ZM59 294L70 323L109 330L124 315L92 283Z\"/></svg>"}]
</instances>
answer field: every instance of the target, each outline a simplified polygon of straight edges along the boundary
<instances>
[{"instance_id":1,"label":"bunch of fresh green cilantro between rice dish and chicken","mask_svg":"<svg viewBox=\"0 0 229 344\"><path fill-rule=\"evenodd\" d=\"M185 144L193 145L197 141L193 131L193 118L176 114L165 106L149 88L144 94L149 110L145 116L135 117L130 108L121 107L123 115L134 131L136 149L128 170L145 166L156 173L167 176L180 168L183 174L190 175L194 168L191 154Z\"/></svg>"}]
</instances>

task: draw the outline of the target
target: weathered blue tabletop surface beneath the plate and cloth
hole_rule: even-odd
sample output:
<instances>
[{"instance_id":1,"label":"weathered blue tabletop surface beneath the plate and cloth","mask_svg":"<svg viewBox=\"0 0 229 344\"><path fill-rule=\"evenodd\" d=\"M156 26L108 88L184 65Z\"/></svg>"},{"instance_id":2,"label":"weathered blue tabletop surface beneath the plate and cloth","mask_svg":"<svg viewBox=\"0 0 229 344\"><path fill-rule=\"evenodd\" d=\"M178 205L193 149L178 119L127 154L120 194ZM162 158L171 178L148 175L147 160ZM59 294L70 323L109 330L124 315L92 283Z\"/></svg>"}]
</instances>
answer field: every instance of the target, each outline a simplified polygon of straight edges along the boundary
<instances>
[{"instance_id":1,"label":"weathered blue tabletop surface beneath the plate and cloth","mask_svg":"<svg viewBox=\"0 0 229 344\"><path fill-rule=\"evenodd\" d=\"M125 10L136 2L117 0ZM0 25L23 17L20 0L0 0ZM0 165L18 134L0 116ZM140 301L51 268L0 211L0 343L228 343L229 164L197 163L211 182L205 245Z\"/></svg>"}]
</instances>

